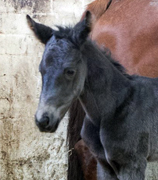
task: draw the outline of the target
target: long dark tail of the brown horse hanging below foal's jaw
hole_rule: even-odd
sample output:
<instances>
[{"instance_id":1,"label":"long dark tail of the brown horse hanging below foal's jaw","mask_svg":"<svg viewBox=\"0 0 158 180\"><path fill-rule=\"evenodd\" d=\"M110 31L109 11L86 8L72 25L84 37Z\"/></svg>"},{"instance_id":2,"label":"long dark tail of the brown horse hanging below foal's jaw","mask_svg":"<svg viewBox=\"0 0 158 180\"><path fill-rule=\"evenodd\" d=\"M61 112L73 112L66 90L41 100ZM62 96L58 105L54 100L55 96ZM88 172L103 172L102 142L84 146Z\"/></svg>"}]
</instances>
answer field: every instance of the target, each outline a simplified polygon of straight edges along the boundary
<instances>
[{"instance_id":1,"label":"long dark tail of the brown horse hanging below foal's jaw","mask_svg":"<svg viewBox=\"0 0 158 180\"><path fill-rule=\"evenodd\" d=\"M85 113L77 100L74 102L69 111L69 123L67 132L67 142L69 143L69 157L68 157L68 180L85 180L80 159L74 147L81 139L80 132L83 124Z\"/></svg>"}]
</instances>

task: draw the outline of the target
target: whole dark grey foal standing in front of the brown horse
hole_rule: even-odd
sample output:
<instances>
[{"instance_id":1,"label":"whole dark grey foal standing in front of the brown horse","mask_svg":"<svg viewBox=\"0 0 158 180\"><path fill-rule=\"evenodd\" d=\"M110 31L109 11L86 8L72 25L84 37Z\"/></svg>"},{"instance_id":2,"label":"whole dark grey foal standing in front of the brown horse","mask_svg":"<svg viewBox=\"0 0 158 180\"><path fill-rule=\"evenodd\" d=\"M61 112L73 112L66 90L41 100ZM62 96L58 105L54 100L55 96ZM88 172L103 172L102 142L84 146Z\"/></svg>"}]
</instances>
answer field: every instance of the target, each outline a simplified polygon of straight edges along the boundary
<instances>
[{"instance_id":1,"label":"whole dark grey foal standing in front of the brown horse","mask_svg":"<svg viewBox=\"0 0 158 180\"><path fill-rule=\"evenodd\" d=\"M55 31L28 23L46 44L36 124L55 132L72 102L86 113L81 136L97 159L98 180L144 180L158 158L158 79L130 76L87 39L91 14Z\"/></svg>"}]
</instances>

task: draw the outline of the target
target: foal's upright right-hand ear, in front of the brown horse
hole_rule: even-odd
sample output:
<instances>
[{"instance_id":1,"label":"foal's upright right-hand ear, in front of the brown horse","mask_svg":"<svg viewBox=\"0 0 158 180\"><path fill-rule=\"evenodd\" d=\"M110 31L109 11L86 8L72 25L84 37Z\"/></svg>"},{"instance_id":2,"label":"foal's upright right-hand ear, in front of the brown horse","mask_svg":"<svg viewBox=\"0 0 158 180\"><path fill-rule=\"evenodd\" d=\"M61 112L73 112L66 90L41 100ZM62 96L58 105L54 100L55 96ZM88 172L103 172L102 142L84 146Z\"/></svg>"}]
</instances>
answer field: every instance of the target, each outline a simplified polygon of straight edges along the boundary
<instances>
[{"instance_id":1,"label":"foal's upright right-hand ear, in front of the brown horse","mask_svg":"<svg viewBox=\"0 0 158 180\"><path fill-rule=\"evenodd\" d=\"M91 20L91 13L87 11L84 19L74 27L73 37L77 43L82 44L87 39L91 31Z\"/></svg>"}]
</instances>

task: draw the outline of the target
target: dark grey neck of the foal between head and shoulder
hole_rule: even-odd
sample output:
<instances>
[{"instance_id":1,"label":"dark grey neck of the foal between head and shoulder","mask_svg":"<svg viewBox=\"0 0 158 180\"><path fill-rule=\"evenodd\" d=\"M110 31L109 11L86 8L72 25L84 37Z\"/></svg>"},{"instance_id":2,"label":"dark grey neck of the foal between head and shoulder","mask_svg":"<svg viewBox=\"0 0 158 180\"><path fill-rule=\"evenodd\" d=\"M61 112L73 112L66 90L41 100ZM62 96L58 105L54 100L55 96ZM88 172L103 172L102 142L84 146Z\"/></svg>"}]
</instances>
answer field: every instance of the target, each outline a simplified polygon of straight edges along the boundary
<instances>
[{"instance_id":1,"label":"dark grey neck of the foal between head and shoulder","mask_svg":"<svg viewBox=\"0 0 158 180\"><path fill-rule=\"evenodd\" d=\"M123 75L95 45L87 42L84 52L87 61L87 78L80 97L87 116L99 125L101 119L111 119L116 108L126 99L131 87Z\"/></svg>"}]
</instances>

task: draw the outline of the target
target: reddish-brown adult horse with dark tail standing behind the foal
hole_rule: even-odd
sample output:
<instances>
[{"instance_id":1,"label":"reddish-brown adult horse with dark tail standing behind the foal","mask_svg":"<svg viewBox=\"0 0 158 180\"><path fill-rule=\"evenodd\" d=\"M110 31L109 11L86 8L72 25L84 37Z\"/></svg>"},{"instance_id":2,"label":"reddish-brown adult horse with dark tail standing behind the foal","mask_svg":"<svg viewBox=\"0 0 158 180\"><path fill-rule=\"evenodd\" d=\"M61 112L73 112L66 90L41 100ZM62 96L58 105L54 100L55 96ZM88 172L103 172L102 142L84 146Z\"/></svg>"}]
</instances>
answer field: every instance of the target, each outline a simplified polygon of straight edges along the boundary
<instances>
[{"instance_id":1,"label":"reddish-brown adult horse with dark tail standing behind the foal","mask_svg":"<svg viewBox=\"0 0 158 180\"><path fill-rule=\"evenodd\" d=\"M91 39L101 48L109 48L112 57L119 60L128 73L158 77L157 1L96 0L86 11L93 17ZM79 102L75 102L68 125L71 151L68 180L97 179L96 160L80 138L84 115Z\"/></svg>"}]
</instances>

